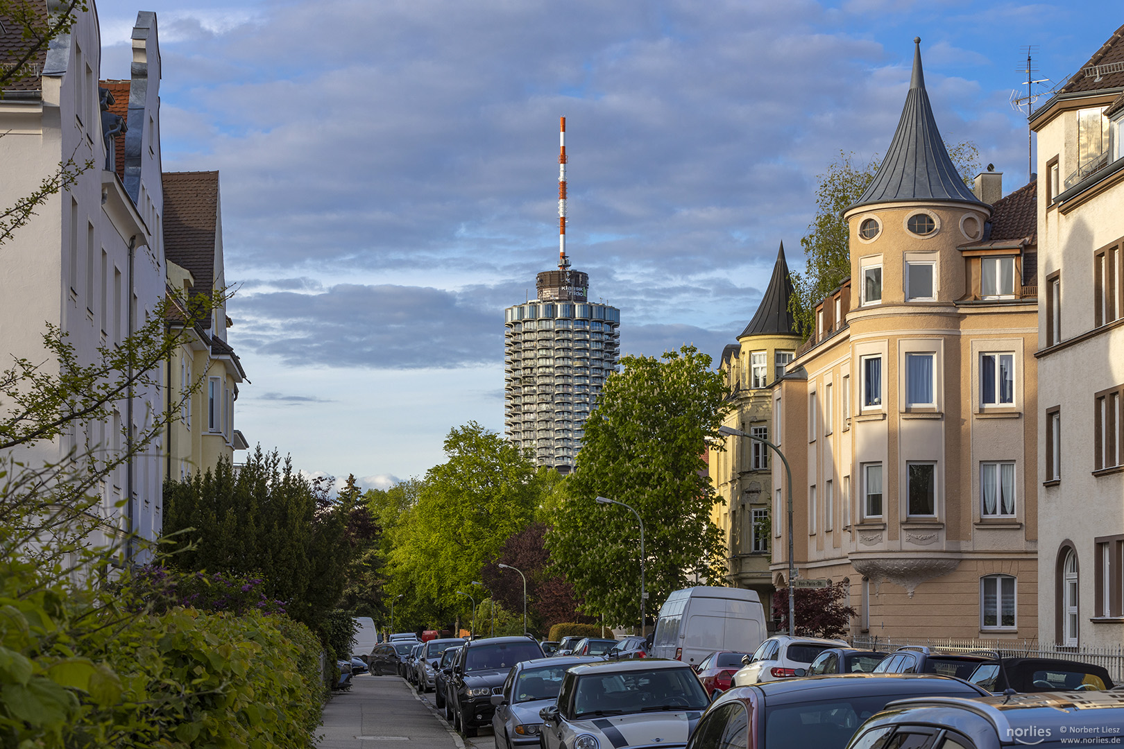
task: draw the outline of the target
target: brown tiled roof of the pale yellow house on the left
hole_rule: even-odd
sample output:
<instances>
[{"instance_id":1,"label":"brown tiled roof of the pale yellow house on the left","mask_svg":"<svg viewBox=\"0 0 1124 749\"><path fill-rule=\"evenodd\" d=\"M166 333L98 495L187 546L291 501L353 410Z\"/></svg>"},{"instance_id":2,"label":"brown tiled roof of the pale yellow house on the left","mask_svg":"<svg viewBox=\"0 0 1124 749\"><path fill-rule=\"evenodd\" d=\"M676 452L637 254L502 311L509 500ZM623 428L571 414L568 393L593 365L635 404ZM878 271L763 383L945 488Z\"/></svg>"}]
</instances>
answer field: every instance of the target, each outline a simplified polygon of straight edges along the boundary
<instances>
[{"instance_id":1,"label":"brown tiled roof of the pale yellow house on the left","mask_svg":"<svg viewBox=\"0 0 1124 749\"><path fill-rule=\"evenodd\" d=\"M163 182L164 256L190 271L194 290L209 296L215 285L218 172L165 172Z\"/></svg>"}]
</instances>

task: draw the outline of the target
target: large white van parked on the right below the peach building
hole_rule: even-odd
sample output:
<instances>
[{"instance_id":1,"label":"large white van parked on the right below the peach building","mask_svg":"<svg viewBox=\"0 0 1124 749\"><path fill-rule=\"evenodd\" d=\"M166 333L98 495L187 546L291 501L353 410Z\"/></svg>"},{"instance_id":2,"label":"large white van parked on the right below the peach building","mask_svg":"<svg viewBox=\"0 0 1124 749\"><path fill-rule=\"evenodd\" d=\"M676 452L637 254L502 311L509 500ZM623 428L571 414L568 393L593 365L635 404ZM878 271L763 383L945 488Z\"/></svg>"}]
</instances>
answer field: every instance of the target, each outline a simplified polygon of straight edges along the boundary
<instances>
[{"instance_id":1,"label":"large white van parked on the right below the peach building","mask_svg":"<svg viewBox=\"0 0 1124 749\"><path fill-rule=\"evenodd\" d=\"M715 650L753 652L764 639L765 611L755 591L686 587L660 609L652 655L694 666Z\"/></svg>"}]
</instances>

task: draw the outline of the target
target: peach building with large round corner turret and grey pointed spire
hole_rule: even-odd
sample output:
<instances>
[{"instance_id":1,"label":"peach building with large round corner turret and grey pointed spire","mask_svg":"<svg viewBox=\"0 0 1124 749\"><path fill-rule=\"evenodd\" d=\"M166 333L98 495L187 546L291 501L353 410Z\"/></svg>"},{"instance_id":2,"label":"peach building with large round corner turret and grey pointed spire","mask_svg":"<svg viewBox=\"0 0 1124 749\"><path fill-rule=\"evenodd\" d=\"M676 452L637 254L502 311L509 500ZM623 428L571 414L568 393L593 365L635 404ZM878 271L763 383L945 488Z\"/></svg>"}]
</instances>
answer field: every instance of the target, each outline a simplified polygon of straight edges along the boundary
<instances>
[{"instance_id":1,"label":"peach building with large round corner turret and grey pointed spire","mask_svg":"<svg viewBox=\"0 0 1124 749\"><path fill-rule=\"evenodd\" d=\"M1000 199L994 171L966 186L915 43L897 131L844 212L851 276L772 393L795 563L849 584L853 633L1034 639L1036 186ZM782 586L787 482L772 471Z\"/></svg>"}]
</instances>

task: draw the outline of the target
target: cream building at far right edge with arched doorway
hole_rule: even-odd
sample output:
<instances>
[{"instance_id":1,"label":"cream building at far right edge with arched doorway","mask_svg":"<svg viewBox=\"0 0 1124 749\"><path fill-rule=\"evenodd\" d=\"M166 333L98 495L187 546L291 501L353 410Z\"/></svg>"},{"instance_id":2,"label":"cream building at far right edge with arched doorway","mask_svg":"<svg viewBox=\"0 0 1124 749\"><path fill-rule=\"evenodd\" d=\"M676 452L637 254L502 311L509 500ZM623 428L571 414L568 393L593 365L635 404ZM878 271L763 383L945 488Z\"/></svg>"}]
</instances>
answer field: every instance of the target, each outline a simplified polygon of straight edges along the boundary
<instances>
[{"instance_id":1,"label":"cream building at far right edge with arched doorway","mask_svg":"<svg viewBox=\"0 0 1124 749\"><path fill-rule=\"evenodd\" d=\"M1124 26L1037 134L1040 637L1124 641Z\"/></svg>"}]
</instances>

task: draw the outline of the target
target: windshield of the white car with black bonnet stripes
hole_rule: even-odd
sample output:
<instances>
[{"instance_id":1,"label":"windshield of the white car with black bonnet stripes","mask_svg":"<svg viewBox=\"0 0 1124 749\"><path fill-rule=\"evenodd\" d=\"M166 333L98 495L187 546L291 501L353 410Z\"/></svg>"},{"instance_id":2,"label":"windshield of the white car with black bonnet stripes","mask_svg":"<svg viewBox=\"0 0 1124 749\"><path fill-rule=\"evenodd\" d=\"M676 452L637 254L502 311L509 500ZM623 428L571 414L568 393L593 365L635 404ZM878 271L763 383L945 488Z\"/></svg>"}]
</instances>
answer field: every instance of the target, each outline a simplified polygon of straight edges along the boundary
<instances>
[{"instance_id":1,"label":"windshield of the white car with black bonnet stripes","mask_svg":"<svg viewBox=\"0 0 1124 749\"><path fill-rule=\"evenodd\" d=\"M587 674L574 689L573 716L706 710L706 692L690 668Z\"/></svg>"}]
</instances>

